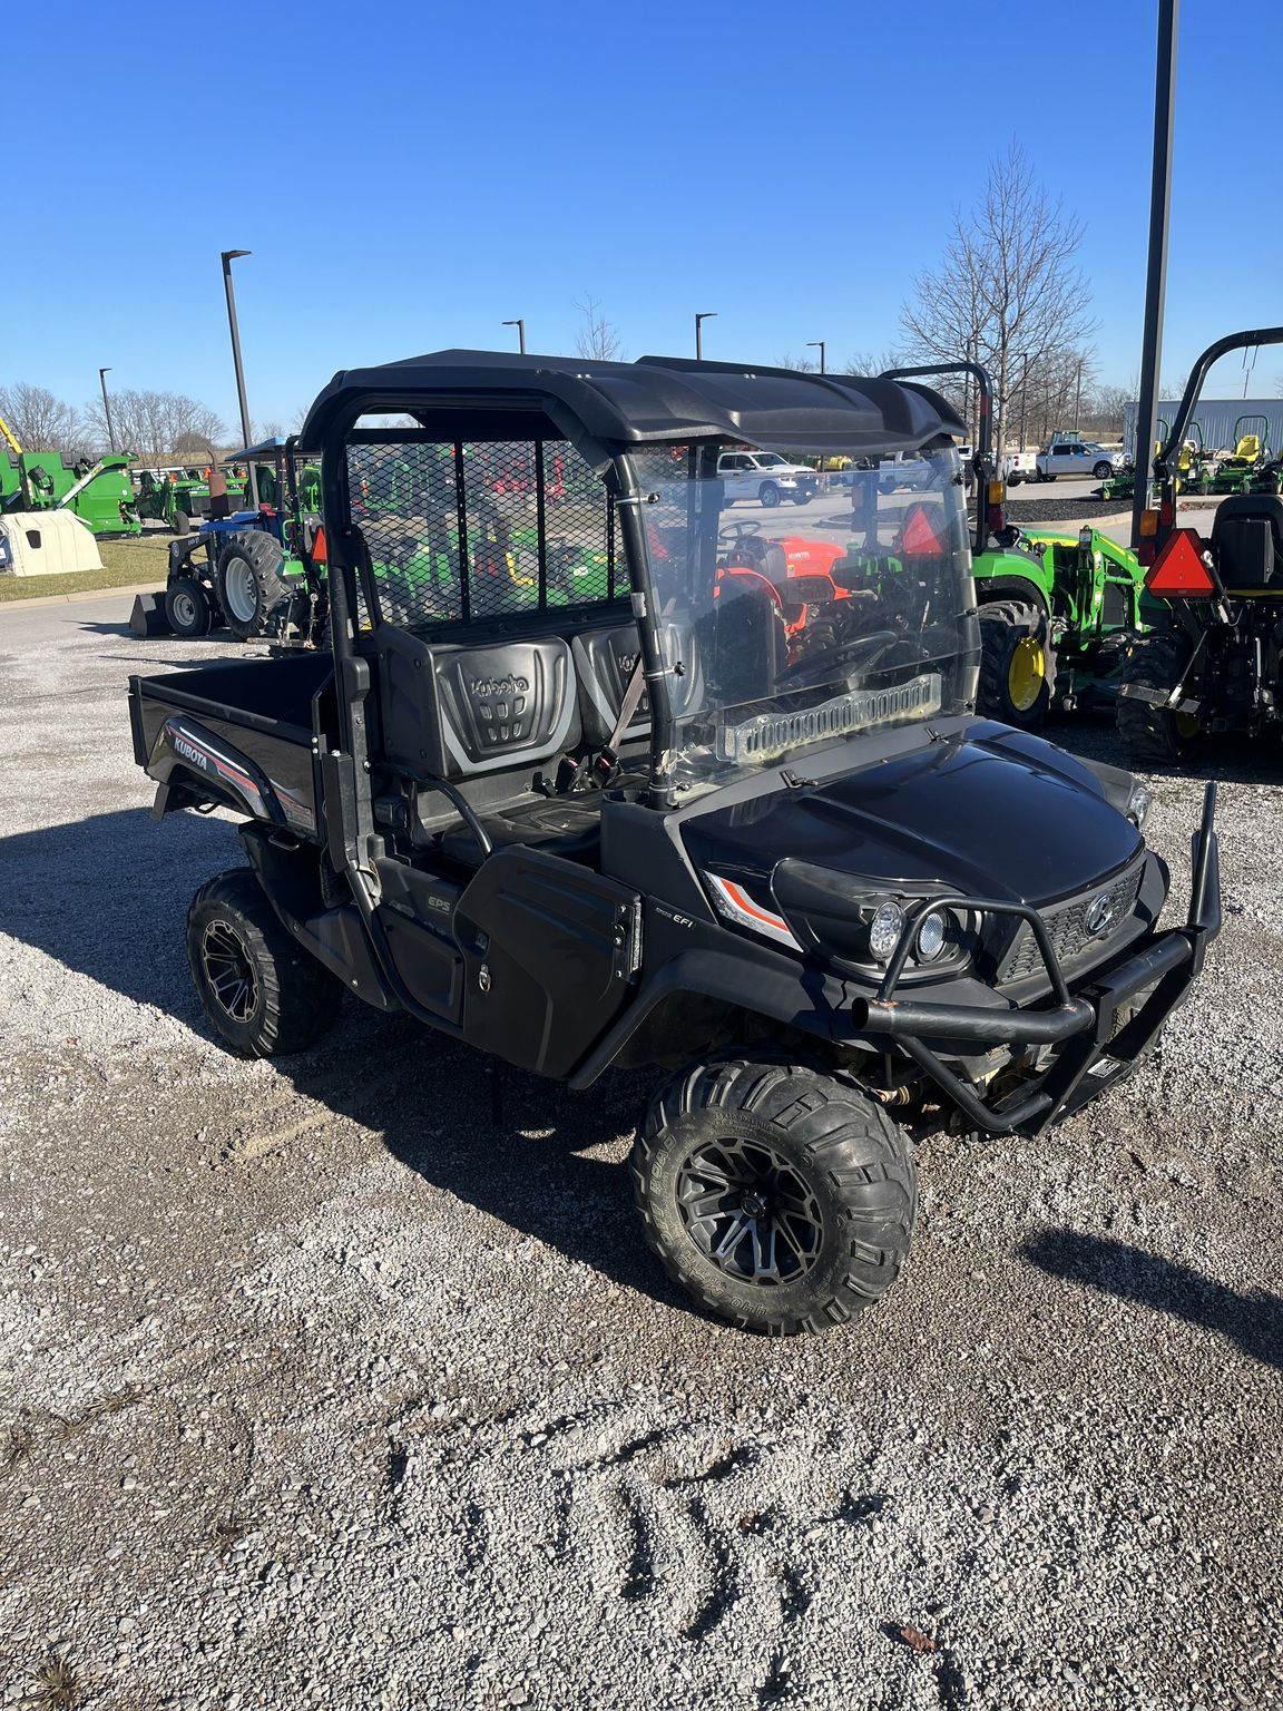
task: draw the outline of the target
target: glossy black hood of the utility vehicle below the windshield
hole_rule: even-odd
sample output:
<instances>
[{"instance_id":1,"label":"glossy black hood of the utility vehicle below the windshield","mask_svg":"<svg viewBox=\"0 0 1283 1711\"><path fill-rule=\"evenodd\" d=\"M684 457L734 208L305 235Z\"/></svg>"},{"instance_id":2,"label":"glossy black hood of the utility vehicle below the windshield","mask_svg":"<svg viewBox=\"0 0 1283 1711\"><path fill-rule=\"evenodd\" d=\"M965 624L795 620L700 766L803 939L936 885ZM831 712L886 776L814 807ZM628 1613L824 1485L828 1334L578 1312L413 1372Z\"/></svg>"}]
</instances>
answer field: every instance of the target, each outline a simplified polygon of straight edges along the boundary
<instances>
[{"instance_id":1,"label":"glossy black hood of the utility vehicle below the windshield","mask_svg":"<svg viewBox=\"0 0 1283 1711\"><path fill-rule=\"evenodd\" d=\"M1088 767L987 720L813 789L693 816L683 835L698 867L760 895L790 857L891 886L934 881L1035 905L1086 890L1141 849Z\"/></svg>"}]
</instances>

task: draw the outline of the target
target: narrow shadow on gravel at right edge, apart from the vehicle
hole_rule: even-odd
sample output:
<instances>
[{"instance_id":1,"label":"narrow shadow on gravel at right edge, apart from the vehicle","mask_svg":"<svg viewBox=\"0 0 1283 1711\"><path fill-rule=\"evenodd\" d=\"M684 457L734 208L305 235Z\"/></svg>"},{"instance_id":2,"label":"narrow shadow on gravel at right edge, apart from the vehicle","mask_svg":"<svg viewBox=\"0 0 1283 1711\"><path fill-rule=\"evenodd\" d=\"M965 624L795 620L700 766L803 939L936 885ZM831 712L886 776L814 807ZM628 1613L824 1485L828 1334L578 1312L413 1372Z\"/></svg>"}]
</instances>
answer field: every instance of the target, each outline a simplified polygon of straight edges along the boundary
<instances>
[{"instance_id":1,"label":"narrow shadow on gravel at right edge, apart from the vehicle","mask_svg":"<svg viewBox=\"0 0 1283 1711\"><path fill-rule=\"evenodd\" d=\"M1228 1336L1250 1360L1283 1371L1283 1300L1278 1295L1242 1294L1175 1259L1078 1230L1035 1235L1025 1258L1052 1276L1074 1278L1107 1295L1201 1324Z\"/></svg>"}]
</instances>

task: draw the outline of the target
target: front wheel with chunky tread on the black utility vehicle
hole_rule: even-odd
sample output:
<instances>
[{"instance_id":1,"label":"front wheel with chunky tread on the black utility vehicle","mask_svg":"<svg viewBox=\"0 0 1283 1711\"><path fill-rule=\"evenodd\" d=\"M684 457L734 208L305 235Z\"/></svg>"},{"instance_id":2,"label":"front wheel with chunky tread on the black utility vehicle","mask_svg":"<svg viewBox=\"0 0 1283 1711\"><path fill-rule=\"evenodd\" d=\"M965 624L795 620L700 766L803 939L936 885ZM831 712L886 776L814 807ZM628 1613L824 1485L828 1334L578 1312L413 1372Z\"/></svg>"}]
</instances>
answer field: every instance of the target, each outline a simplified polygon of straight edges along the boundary
<instances>
[{"instance_id":1,"label":"front wheel with chunky tread on the black utility vehicle","mask_svg":"<svg viewBox=\"0 0 1283 1711\"><path fill-rule=\"evenodd\" d=\"M744 1331L847 1324L908 1258L910 1141L878 1100L818 1069L683 1069L655 1095L631 1172L669 1276Z\"/></svg>"}]
</instances>

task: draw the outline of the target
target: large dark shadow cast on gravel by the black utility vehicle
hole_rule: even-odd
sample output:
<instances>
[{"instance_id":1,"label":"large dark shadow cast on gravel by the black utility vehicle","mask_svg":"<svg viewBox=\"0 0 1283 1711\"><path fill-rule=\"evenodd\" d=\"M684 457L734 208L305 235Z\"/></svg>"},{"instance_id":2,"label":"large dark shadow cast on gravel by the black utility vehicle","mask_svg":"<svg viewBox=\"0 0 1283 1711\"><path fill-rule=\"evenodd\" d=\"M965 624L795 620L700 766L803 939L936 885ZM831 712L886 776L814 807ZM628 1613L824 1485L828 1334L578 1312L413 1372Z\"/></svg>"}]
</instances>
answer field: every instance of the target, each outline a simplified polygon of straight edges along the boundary
<instances>
[{"instance_id":1,"label":"large dark shadow cast on gravel by the black utility vehicle","mask_svg":"<svg viewBox=\"0 0 1283 1711\"><path fill-rule=\"evenodd\" d=\"M80 808L68 801L65 811ZM0 838L0 931L209 1039L183 950L186 907L209 874L243 866L234 826L193 828L185 814L157 825L145 808L15 833ZM299 1093L373 1129L428 1182L616 1283L691 1311L640 1239L628 1167L580 1157L633 1129L650 1076L614 1073L575 1093L501 1069L496 1122L488 1059L356 1003L332 1035L277 1069Z\"/></svg>"}]
</instances>

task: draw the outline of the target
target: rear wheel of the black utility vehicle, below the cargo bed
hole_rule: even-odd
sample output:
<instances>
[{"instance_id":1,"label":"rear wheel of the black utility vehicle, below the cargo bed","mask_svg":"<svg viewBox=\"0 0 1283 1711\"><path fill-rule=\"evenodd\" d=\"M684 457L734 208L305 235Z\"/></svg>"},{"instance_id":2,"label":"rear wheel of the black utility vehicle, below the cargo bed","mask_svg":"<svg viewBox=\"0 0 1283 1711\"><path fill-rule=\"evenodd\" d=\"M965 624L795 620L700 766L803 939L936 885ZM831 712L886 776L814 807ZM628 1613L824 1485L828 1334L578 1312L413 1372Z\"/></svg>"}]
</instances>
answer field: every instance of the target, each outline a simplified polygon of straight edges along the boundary
<instances>
[{"instance_id":1,"label":"rear wheel of the black utility vehicle, below the cargo bed","mask_svg":"<svg viewBox=\"0 0 1283 1711\"><path fill-rule=\"evenodd\" d=\"M214 1032L239 1057L301 1052L339 1015L342 986L291 939L248 867L192 898L186 960Z\"/></svg>"}]
</instances>

